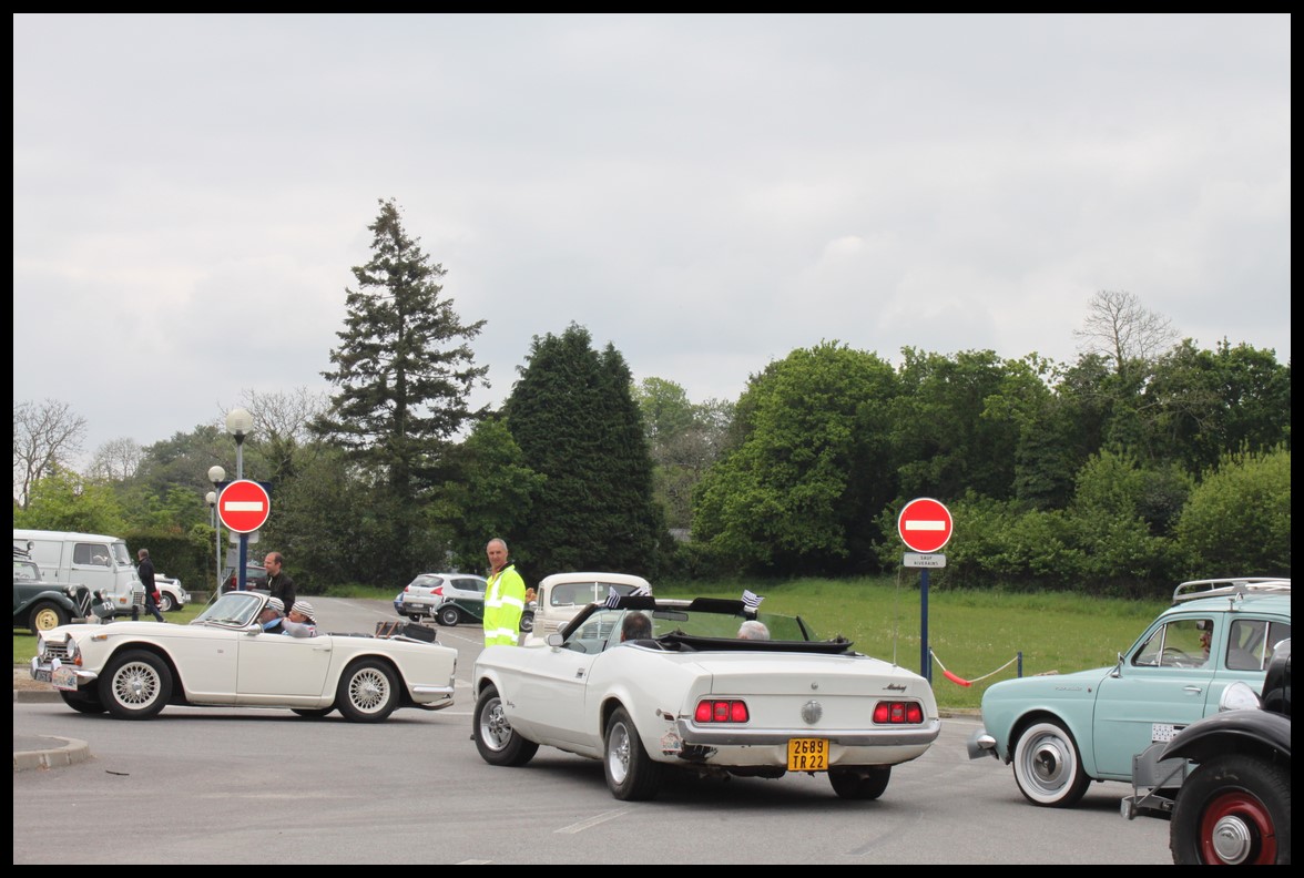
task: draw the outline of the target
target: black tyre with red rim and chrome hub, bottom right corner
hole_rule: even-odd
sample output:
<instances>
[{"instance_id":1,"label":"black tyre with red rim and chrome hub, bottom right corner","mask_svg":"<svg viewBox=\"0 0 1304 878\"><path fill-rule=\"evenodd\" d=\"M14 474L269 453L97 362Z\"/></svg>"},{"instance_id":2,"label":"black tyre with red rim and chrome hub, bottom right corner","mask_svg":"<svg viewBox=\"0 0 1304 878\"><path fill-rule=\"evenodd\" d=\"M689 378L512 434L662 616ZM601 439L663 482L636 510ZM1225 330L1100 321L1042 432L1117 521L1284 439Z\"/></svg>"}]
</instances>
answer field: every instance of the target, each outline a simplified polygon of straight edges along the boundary
<instances>
[{"instance_id":1,"label":"black tyre with red rim and chrome hub, bottom right corner","mask_svg":"<svg viewBox=\"0 0 1304 878\"><path fill-rule=\"evenodd\" d=\"M1290 865L1290 764L1231 753L1198 766L1178 792L1168 849L1183 866Z\"/></svg>"}]
</instances>

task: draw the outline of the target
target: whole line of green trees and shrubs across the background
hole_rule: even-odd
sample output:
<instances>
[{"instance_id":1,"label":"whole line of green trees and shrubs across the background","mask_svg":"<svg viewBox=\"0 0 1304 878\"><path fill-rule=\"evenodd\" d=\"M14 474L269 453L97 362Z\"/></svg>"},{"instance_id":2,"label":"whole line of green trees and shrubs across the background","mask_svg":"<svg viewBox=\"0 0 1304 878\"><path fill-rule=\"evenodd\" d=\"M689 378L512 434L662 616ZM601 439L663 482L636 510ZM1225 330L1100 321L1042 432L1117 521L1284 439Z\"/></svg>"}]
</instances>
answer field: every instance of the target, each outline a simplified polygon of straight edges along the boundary
<instances>
[{"instance_id":1,"label":"whole line of green trees and shrubs across the background","mask_svg":"<svg viewBox=\"0 0 1304 878\"><path fill-rule=\"evenodd\" d=\"M1132 294L1095 294L1073 363L906 347L892 365L824 341L735 401L698 403L635 382L571 322L533 338L501 407L472 410L485 321L458 314L394 201L368 228L333 391L240 401L245 477L273 484L254 554L283 552L305 594L479 570L490 536L529 581L875 574L901 564L913 497L955 518L939 588L1153 598L1185 578L1290 575L1290 363L1176 341ZM65 463L78 427L57 401L16 401L14 526L121 535L188 584L214 582L201 498L209 467L230 467L220 425L112 442L87 472Z\"/></svg>"}]
</instances>

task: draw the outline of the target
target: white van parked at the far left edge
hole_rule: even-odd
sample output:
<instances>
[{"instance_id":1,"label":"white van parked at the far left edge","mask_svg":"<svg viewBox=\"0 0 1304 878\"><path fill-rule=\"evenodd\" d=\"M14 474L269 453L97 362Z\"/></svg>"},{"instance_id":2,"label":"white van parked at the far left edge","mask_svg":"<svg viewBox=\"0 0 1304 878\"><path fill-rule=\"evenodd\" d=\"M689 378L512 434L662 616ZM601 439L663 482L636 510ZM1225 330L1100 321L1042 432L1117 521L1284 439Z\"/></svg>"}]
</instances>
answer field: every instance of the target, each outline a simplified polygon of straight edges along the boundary
<instances>
[{"instance_id":1,"label":"white van parked at the far left edge","mask_svg":"<svg viewBox=\"0 0 1304 878\"><path fill-rule=\"evenodd\" d=\"M145 586L126 543L102 534L13 528L13 545L30 553L46 582L81 584L103 591L116 616L145 609Z\"/></svg>"}]
</instances>

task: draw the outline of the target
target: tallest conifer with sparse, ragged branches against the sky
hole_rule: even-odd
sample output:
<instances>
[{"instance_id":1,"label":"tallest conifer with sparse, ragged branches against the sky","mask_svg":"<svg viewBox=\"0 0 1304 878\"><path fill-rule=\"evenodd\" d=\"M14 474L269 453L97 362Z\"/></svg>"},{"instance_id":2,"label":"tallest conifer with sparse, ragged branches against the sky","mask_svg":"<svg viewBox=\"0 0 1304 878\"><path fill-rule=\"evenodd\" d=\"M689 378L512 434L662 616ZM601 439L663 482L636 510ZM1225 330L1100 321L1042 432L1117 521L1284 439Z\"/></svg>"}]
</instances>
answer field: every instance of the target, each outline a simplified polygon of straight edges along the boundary
<instances>
[{"instance_id":1,"label":"tallest conifer with sparse, ragged branches against the sky","mask_svg":"<svg viewBox=\"0 0 1304 878\"><path fill-rule=\"evenodd\" d=\"M403 577L442 560L417 530L422 493L450 476L451 438L480 415L468 398L486 384L489 367L475 365L468 344L485 321L460 321L442 296L443 266L403 231L394 200L379 205L368 226L372 258L352 269L357 290L346 288L348 314L330 355L335 368L322 372L339 391L316 427L370 472L374 510L389 518L378 528L389 545L370 551L385 553L379 575Z\"/></svg>"}]
</instances>

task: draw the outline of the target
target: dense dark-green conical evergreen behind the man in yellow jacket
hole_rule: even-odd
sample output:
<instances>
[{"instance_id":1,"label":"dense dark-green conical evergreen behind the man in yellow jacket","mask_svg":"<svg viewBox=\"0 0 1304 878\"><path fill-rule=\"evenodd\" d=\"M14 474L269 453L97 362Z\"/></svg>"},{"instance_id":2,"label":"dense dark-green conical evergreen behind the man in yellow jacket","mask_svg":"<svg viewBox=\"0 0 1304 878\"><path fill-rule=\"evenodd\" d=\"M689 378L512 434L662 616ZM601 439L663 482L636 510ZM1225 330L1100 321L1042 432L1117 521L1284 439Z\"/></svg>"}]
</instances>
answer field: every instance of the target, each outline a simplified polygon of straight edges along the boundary
<instances>
[{"instance_id":1,"label":"dense dark-green conical evergreen behind the man in yellow jacket","mask_svg":"<svg viewBox=\"0 0 1304 878\"><path fill-rule=\"evenodd\" d=\"M524 524L507 535L528 579L563 570L653 575L662 534L652 458L630 369L588 330L535 337L503 404L524 466L545 476Z\"/></svg>"}]
</instances>

